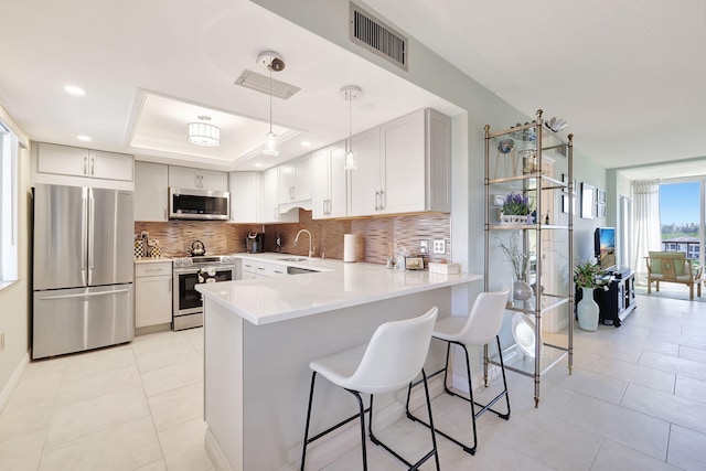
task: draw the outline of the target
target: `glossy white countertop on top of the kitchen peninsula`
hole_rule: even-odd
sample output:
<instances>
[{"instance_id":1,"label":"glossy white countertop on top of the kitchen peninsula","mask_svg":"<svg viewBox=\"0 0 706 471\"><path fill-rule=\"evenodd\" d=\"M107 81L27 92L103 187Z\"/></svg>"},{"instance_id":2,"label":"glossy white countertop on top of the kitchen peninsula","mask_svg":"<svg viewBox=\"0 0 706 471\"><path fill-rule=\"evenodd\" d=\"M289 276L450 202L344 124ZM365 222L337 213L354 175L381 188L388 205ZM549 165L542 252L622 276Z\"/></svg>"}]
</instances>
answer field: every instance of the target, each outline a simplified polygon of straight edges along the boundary
<instances>
[{"instance_id":1,"label":"glossy white countertop on top of the kitchen peninsula","mask_svg":"<svg viewBox=\"0 0 706 471\"><path fill-rule=\"evenodd\" d=\"M287 254L236 254L240 258L321 270L197 285L196 290L255 325L297 319L454 285L482 280L482 275L439 275L387 269L382 265L344 264L334 259L287 261Z\"/></svg>"}]
</instances>

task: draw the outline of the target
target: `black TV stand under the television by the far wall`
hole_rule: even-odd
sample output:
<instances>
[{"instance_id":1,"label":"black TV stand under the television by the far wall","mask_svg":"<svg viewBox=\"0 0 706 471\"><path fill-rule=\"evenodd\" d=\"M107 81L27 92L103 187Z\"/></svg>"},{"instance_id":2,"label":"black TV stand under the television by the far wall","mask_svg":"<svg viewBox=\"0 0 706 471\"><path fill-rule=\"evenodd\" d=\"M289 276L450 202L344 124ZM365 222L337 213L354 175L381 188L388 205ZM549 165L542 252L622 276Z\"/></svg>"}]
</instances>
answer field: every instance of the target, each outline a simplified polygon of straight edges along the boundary
<instances>
[{"instance_id":1,"label":"black TV stand under the television by the far wall","mask_svg":"<svg viewBox=\"0 0 706 471\"><path fill-rule=\"evenodd\" d=\"M620 327L625 317L635 307L635 274L630 269L618 269L612 272L614 279L608 291L593 290L593 300L600 308L598 322L605 325Z\"/></svg>"}]
</instances>

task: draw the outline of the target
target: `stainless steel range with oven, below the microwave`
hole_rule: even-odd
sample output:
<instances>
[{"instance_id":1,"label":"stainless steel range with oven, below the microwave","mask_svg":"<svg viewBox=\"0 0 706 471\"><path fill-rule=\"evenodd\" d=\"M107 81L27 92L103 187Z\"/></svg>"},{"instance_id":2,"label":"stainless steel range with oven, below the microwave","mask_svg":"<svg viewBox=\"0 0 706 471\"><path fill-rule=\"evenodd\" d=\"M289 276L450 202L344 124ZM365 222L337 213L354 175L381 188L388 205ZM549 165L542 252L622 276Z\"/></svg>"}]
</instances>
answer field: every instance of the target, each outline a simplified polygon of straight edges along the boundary
<instances>
[{"instance_id":1,"label":"stainless steel range with oven, below the microwave","mask_svg":"<svg viewBox=\"0 0 706 471\"><path fill-rule=\"evenodd\" d=\"M174 258L172 266L174 283L174 289L172 290L174 293L172 330L201 327L203 325L203 301L195 286L210 279L215 281L234 280L235 256L214 255Z\"/></svg>"}]
</instances>

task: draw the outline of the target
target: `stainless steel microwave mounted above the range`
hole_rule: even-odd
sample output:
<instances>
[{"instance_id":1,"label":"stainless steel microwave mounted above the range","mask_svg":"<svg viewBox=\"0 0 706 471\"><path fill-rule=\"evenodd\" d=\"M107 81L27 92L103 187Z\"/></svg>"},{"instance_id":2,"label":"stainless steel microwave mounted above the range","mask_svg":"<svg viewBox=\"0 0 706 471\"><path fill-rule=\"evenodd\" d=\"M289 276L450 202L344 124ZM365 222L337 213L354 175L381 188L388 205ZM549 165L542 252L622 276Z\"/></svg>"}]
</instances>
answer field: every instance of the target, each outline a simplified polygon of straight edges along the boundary
<instances>
[{"instance_id":1,"label":"stainless steel microwave mounted above the range","mask_svg":"<svg viewBox=\"0 0 706 471\"><path fill-rule=\"evenodd\" d=\"M195 189L169 189L169 218L228 221L231 193Z\"/></svg>"}]
</instances>

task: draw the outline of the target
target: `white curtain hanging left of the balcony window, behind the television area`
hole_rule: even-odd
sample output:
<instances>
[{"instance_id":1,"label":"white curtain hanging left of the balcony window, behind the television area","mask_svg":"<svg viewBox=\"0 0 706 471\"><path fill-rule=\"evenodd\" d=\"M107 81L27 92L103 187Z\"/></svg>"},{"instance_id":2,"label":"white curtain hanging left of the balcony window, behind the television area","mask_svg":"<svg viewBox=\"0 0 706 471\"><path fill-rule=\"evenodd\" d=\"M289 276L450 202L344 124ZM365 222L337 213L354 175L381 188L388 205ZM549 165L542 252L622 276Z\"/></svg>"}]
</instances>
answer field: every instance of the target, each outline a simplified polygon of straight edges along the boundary
<instances>
[{"instance_id":1,"label":"white curtain hanging left of the balcony window, behind the television area","mask_svg":"<svg viewBox=\"0 0 706 471\"><path fill-rule=\"evenodd\" d=\"M662 224L660 221L660 182L645 180L632 182L634 201L634 244L631 257L635 280L645 283L648 266L644 257L650 250L662 249Z\"/></svg>"}]
</instances>

